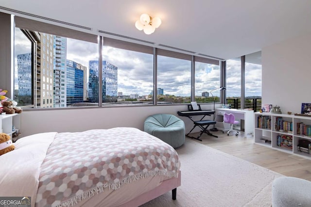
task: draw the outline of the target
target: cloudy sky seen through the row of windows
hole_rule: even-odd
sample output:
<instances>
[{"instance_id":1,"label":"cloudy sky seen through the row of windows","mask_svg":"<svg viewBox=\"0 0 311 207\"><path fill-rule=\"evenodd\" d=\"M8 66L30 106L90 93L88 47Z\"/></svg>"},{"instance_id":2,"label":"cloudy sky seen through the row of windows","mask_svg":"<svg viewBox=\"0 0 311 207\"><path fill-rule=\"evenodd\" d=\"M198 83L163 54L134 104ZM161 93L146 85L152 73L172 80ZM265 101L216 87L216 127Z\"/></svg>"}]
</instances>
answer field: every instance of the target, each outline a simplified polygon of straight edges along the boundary
<instances>
[{"instance_id":1,"label":"cloudy sky seen through the row of windows","mask_svg":"<svg viewBox=\"0 0 311 207\"><path fill-rule=\"evenodd\" d=\"M29 41L17 29L15 56L30 51ZM88 61L98 60L97 44L68 38L67 59L88 67ZM122 92L123 95L138 94L140 96L151 93L153 89L153 55L104 47L103 60L118 67L118 92ZM226 65L226 95L241 96L241 63L228 60ZM158 56L157 66L157 87L164 89L164 94L190 96L190 61ZM219 86L220 68L218 65L195 64L196 96L201 96L202 92L210 92ZM215 91L213 95L219 96L219 91ZM261 96L261 65L245 64L245 96Z\"/></svg>"}]
</instances>

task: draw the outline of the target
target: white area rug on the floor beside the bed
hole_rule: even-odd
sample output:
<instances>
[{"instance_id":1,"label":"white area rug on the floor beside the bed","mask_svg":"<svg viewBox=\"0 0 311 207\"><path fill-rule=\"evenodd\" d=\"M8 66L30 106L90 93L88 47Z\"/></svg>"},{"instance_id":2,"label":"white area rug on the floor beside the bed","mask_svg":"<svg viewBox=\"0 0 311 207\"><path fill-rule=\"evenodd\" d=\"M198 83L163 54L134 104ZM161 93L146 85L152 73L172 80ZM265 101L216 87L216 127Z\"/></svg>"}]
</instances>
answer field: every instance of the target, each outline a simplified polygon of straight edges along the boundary
<instances>
[{"instance_id":1,"label":"white area rug on the floor beside the bed","mask_svg":"<svg viewBox=\"0 0 311 207\"><path fill-rule=\"evenodd\" d=\"M272 181L283 176L186 139L177 199L168 192L141 207L271 207Z\"/></svg>"}]
</instances>

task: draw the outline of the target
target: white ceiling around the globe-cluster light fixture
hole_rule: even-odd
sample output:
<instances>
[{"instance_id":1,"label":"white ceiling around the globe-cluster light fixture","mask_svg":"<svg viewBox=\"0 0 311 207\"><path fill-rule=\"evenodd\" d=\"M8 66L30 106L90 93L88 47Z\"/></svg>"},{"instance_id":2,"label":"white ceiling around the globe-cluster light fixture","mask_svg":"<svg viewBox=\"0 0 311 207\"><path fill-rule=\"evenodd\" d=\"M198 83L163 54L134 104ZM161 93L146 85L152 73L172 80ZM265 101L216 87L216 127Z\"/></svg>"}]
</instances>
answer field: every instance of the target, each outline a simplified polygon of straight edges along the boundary
<instances>
[{"instance_id":1,"label":"white ceiling around the globe-cluster light fixture","mask_svg":"<svg viewBox=\"0 0 311 207\"><path fill-rule=\"evenodd\" d=\"M225 60L311 32L311 0L0 0L5 8ZM162 19L153 34L135 28L142 13Z\"/></svg>"}]
</instances>

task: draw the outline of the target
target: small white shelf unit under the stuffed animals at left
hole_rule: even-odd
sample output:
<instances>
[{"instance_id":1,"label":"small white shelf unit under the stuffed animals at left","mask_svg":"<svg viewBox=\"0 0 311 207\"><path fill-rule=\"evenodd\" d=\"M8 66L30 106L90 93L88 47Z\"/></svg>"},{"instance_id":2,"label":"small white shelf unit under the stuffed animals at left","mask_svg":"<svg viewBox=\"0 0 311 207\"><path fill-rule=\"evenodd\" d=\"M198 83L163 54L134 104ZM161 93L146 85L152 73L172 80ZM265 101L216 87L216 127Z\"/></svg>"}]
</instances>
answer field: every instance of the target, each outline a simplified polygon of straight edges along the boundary
<instances>
[{"instance_id":1,"label":"small white shelf unit under the stuffed animals at left","mask_svg":"<svg viewBox=\"0 0 311 207\"><path fill-rule=\"evenodd\" d=\"M16 130L13 130L13 126ZM20 129L20 114L6 114L0 115L0 132L6 133L11 136Z\"/></svg>"}]
</instances>

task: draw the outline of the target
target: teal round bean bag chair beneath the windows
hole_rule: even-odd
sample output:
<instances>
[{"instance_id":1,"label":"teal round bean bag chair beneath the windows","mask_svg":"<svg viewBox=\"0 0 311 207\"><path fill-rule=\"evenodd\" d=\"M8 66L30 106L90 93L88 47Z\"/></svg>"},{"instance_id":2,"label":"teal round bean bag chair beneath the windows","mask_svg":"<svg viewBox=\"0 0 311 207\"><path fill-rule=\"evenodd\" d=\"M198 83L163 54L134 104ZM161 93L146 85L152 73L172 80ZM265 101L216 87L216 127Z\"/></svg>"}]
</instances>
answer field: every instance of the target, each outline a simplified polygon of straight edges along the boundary
<instances>
[{"instance_id":1,"label":"teal round bean bag chair beneath the windows","mask_svg":"<svg viewBox=\"0 0 311 207\"><path fill-rule=\"evenodd\" d=\"M172 114L159 113L148 116L144 123L144 131L173 148L185 143L185 123Z\"/></svg>"}]
</instances>

